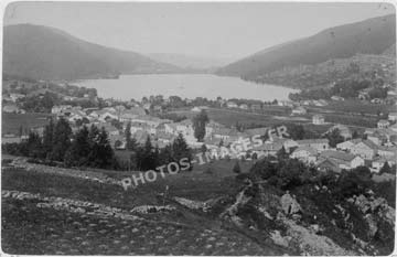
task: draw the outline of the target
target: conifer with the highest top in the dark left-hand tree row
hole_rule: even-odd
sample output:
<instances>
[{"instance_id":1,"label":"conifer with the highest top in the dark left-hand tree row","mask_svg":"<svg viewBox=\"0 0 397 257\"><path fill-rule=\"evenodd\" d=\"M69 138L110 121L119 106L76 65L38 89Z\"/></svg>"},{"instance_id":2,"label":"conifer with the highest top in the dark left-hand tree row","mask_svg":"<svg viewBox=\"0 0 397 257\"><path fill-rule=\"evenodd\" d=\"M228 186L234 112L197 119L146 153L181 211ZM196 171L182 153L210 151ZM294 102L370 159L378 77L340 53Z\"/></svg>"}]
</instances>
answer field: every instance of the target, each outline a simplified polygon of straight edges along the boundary
<instances>
[{"instance_id":1,"label":"conifer with the highest top in the dark left-hand tree row","mask_svg":"<svg viewBox=\"0 0 397 257\"><path fill-rule=\"evenodd\" d=\"M52 151L50 159L54 161L63 161L67 149L71 146L72 129L69 124L61 118L54 128L54 135L52 140Z\"/></svg>"}]
</instances>

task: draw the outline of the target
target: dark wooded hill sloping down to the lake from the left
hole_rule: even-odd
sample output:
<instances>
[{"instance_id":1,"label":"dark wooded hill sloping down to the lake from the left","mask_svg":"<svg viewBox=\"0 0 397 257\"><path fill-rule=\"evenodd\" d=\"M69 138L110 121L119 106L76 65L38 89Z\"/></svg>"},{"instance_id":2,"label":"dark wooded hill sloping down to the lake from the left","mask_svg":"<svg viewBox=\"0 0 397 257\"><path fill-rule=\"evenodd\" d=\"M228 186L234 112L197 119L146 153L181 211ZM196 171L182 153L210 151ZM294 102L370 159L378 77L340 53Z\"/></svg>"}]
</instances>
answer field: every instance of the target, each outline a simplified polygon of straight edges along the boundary
<instances>
[{"instance_id":1,"label":"dark wooded hill sloping down to the lake from the left","mask_svg":"<svg viewBox=\"0 0 397 257\"><path fill-rule=\"evenodd\" d=\"M117 74L172 73L179 68L144 55L86 42L32 24L4 26L3 73L34 79L77 79Z\"/></svg>"}]
</instances>

